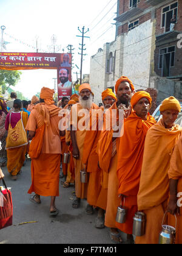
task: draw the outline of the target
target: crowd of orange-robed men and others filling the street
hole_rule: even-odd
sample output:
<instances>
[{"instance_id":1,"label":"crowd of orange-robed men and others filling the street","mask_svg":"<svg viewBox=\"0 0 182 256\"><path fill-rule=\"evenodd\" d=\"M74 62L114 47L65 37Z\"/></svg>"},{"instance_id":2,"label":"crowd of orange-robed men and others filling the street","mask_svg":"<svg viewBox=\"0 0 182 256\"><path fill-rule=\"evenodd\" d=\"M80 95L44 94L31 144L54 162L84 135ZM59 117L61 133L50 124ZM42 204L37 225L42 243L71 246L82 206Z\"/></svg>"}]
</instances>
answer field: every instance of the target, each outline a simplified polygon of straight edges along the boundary
<instances>
[{"instance_id":1,"label":"crowd of orange-robed men and others filling the street","mask_svg":"<svg viewBox=\"0 0 182 256\"><path fill-rule=\"evenodd\" d=\"M180 102L173 96L164 99L160 106L162 118L157 123L149 113L150 94L136 92L126 76L116 82L115 93L109 88L103 91L100 107L93 103L89 84L80 85L79 95L64 97L58 104L53 94L53 90L43 87L40 99L33 96L30 105L22 105L16 98L12 105L0 101L1 165L7 152L8 172L17 180L25 155L29 154L30 201L41 204L41 196L49 196L50 216L59 214L56 197L62 165L63 188L75 185L72 207L79 208L81 200L87 199L86 213L93 215L93 209L98 209L95 227L108 227L113 243L123 243L124 232L129 243L158 244L163 218L175 227L176 216L175 243L181 244L178 193L182 192L182 127L175 124L181 112ZM93 122L93 110L103 114L102 129L99 115ZM69 162L64 161L65 154L70 156ZM121 206L127 208L123 223L116 221ZM133 217L137 212L146 216L146 231L134 241Z\"/></svg>"}]
</instances>

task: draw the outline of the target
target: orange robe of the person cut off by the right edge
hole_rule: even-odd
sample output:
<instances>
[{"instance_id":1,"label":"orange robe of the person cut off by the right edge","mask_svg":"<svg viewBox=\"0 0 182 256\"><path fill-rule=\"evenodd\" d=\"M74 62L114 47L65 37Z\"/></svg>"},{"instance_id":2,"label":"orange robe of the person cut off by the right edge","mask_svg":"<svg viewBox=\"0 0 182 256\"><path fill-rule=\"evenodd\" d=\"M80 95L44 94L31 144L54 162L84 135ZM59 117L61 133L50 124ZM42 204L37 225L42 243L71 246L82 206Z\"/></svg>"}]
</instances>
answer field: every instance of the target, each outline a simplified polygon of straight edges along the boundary
<instances>
[{"instance_id":1,"label":"orange robe of the person cut off by the right edge","mask_svg":"<svg viewBox=\"0 0 182 256\"><path fill-rule=\"evenodd\" d=\"M178 193L182 192L182 135L175 146L174 153L170 161L170 169L168 171L169 179L178 181ZM178 198L181 204L181 197ZM175 217L168 216L168 224L175 227ZM181 237L182 230L182 207L180 207L180 215L177 215L177 232L176 232L176 244L182 244Z\"/></svg>"}]
</instances>

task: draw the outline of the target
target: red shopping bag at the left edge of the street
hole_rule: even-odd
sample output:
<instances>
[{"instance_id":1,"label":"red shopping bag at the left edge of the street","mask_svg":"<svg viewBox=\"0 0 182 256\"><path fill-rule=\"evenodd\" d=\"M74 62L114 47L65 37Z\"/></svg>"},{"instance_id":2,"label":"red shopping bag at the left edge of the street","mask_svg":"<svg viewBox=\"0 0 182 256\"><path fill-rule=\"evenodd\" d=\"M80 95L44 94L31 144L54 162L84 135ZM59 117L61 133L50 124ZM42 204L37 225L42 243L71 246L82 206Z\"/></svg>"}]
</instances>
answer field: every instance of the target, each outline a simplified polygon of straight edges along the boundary
<instances>
[{"instance_id":1,"label":"red shopping bag at the left edge of the street","mask_svg":"<svg viewBox=\"0 0 182 256\"><path fill-rule=\"evenodd\" d=\"M2 179L5 189L0 187L0 229L12 226L13 224L13 204L12 193L7 189L4 179Z\"/></svg>"}]
</instances>

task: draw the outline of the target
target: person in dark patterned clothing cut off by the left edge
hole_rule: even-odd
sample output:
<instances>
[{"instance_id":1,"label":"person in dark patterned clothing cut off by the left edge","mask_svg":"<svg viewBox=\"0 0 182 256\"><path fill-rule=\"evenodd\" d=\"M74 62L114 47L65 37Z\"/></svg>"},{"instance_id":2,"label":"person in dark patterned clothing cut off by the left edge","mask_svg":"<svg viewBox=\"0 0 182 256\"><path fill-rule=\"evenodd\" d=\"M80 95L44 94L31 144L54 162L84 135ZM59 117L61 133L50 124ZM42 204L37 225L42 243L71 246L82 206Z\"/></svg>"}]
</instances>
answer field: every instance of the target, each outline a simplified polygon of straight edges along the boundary
<instances>
[{"instance_id":1,"label":"person in dark patterned clothing cut off by the left edge","mask_svg":"<svg viewBox=\"0 0 182 256\"><path fill-rule=\"evenodd\" d=\"M7 163L7 154L5 151L5 138L7 137L7 131L5 130L5 118L8 114L5 101L0 98L0 141L2 150L0 151L0 166L4 167Z\"/></svg>"}]
</instances>

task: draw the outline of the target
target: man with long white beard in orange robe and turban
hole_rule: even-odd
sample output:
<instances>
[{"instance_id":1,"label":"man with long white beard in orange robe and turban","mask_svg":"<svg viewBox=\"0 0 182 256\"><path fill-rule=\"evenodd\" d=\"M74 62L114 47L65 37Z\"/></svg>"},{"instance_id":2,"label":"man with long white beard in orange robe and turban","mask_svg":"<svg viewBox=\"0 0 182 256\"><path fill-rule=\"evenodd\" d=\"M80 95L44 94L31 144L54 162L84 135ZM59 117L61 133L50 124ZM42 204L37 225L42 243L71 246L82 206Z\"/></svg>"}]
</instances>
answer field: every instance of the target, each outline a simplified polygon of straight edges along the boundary
<instances>
[{"instance_id":1,"label":"man with long white beard in orange robe and turban","mask_svg":"<svg viewBox=\"0 0 182 256\"><path fill-rule=\"evenodd\" d=\"M87 148L87 154L92 151L92 143L95 140L97 131L92 131L92 122L89 123L92 116L92 110L99 107L93 103L93 93L89 84L82 84L79 87L79 103L73 105L70 113L71 124L71 140L73 145L73 158L75 162L75 192L76 200L73 202L72 207L78 208L81 199L87 199L88 183L81 183L80 171L85 169L89 172L88 163L83 164L83 151L84 146ZM90 138L90 143L85 145L85 140ZM92 206L87 205L86 212L92 212Z\"/></svg>"}]
</instances>

